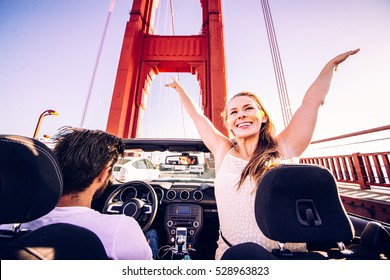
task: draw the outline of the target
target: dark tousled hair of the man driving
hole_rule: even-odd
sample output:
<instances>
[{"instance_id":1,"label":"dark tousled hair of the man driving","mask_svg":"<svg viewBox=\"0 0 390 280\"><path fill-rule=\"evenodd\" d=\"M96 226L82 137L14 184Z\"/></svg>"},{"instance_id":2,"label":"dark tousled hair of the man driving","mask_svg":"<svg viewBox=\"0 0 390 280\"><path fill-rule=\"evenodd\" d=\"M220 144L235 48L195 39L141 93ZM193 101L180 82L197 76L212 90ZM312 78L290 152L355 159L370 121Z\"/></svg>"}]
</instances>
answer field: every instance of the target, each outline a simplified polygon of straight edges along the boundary
<instances>
[{"instance_id":1,"label":"dark tousled hair of the man driving","mask_svg":"<svg viewBox=\"0 0 390 280\"><path fill-rule=\"evenodd\" d=\"M123 156L122 139L101 130L61 128L55 136L54 154L64 177L63 194L87 189L108 163Z\"/></svg>"}]
</instances>

